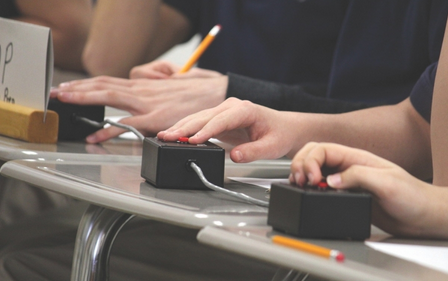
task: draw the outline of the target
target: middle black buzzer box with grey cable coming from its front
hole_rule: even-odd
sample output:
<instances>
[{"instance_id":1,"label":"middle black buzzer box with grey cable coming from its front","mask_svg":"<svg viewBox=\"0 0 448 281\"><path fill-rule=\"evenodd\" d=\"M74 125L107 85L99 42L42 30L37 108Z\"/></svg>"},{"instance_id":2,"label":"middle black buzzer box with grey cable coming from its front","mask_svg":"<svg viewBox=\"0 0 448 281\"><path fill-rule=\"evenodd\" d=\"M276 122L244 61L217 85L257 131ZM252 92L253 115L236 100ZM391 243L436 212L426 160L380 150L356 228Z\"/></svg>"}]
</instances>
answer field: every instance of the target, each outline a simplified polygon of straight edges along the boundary
<instances>
[{"instance_id":1,"label":"middle black buzzer box with grey cable coming from its front","mask_svg":"<svg viewBox=\"0 0 448 281\"><path fill-rule=\"evenodd\" d=\"M224 160L225 150L211 142L190 144L188 138L175 142L145 138L141 176L158 188L208 189L190 163L196 163L209 182L223 186Z\"/></svg>"}]
</instances>

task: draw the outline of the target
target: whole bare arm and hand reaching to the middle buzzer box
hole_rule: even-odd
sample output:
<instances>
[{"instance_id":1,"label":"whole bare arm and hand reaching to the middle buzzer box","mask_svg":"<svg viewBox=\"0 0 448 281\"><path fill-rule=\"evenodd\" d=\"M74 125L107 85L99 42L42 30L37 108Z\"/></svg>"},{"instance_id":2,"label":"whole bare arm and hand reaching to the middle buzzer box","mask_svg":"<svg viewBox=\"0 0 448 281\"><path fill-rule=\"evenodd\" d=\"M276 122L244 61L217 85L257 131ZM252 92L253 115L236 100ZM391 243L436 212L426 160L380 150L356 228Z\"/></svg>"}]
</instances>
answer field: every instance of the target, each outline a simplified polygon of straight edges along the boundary
<instances>
[{"instance_id":1,"label":"whole bare arm and hand reaching to the middle buzzer box","mask_svg":"<svg viewBox=\"0 0 448 281\"><path fill-rule=\"evenodd\" d=\"M371 151L421 178L430 177L432 171L429 124L409 99L397 105L328 115L280 112L229 98L157 136L168 141L191 136L190 143L215 137L236 145L230 153L235 162L292 157L309 141L336 142Z\"/></svg>"}]
</instances>

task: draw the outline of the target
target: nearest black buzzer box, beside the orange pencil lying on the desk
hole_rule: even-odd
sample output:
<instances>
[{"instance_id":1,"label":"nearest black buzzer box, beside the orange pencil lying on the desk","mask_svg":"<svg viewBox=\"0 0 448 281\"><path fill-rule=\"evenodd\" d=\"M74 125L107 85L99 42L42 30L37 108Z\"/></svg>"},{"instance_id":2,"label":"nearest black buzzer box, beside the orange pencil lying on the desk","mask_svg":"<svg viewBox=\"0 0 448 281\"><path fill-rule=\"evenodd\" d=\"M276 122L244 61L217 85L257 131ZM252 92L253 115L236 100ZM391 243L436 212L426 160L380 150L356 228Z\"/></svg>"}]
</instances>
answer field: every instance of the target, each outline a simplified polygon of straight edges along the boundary
<instances>
[{"instance_id":1,"label":"nearest black buzzer box, beside the orange pencil lying on the desk","mask_svg":"<svg viewBox=\"0 0 448 281\"><path fill-rule=\"evenodd\" d=\"M268 225L301 238L370 237L371 195L330 187L272 184Z\"/></svg>"}]
</instances>

